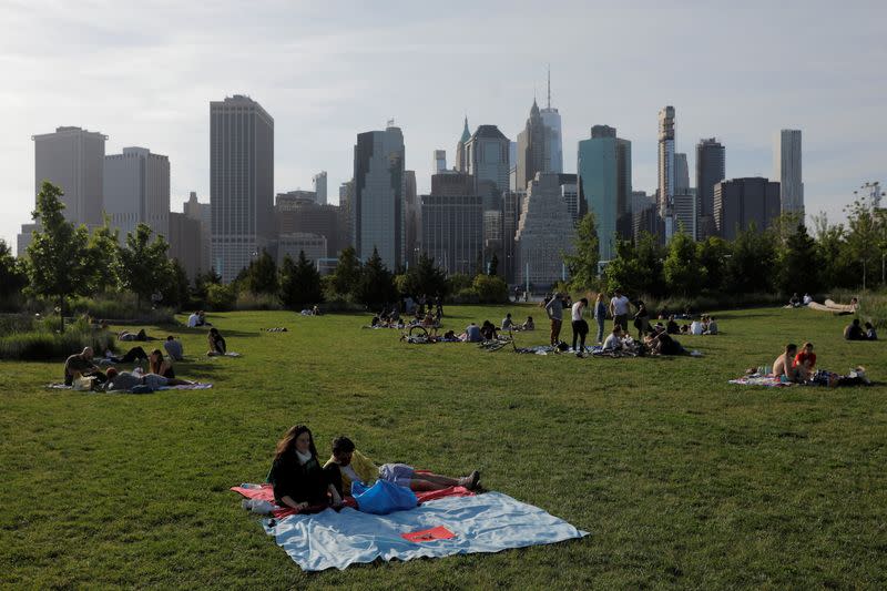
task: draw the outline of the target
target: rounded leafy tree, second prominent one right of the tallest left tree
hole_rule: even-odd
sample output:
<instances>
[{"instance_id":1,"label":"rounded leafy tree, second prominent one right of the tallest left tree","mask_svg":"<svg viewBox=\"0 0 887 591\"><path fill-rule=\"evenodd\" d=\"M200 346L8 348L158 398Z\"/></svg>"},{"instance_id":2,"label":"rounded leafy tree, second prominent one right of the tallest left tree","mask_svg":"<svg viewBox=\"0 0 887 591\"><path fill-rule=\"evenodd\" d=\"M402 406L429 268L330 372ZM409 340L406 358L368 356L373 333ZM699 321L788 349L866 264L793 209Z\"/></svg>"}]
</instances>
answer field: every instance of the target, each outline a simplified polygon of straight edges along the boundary
<instances>
[{"instance_id":1,"label":"rounded leafy tree, second prominent one right of the tallest left tree","mask_svg":"<svg viewBox=\"0 0 887 591\"><path fill-rule=\"evenodd\" d=\"M163 236L152 241L151 234L146 224L139 224L135 233L126 233L126 245L120 251L120 283L135 294L137 309L142 309L143 298L161 292L170 281L170 245Z\"/></svg>"}]
</instances>

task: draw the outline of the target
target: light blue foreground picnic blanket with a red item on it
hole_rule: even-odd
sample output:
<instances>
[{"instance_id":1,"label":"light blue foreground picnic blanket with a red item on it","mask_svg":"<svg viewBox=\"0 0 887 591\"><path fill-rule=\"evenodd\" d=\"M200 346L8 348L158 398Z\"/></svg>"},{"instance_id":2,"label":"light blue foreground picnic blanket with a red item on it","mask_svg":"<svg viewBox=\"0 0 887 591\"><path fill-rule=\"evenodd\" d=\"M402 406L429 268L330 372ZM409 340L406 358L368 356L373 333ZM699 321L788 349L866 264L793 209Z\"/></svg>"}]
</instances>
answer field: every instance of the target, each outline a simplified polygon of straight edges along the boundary
<instances>
[{"instance_id":1,"label":"light blue foreground picnic blanket with a red item on it","mask_svg":"<svg viewBox=\"0 0 887 591\"><path fill-rule=\"evenodd\" d=\"M475 497L446 497L409 511L386 516L350 508L336 512L295 514L279 521L264 520L303 570L343 570L350 564L419 557L447 557L499 552L582 538L575 529L538 507L500 492Z\"/></svg>"}]
</instances>

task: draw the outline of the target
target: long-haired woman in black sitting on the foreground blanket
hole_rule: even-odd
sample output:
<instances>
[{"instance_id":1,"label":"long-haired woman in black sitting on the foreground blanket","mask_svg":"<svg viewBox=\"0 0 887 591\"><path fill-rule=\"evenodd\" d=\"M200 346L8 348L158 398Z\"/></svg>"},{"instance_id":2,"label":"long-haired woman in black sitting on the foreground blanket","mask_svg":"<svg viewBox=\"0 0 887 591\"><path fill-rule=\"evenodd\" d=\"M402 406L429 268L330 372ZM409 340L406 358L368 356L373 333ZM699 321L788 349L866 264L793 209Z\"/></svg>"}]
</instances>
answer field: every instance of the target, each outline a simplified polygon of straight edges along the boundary
<instances>
[{"instance_id":1,"label":"long-haired woman in black sitting on the foreground blanket","mask_svg":"<svg viewBox=\"0 0 887 591\"><path fill-rule=\"evenodd\" d=\"M320 467L314 436L295 425L277 441L268 472L274 501L281 507L304 510L313 506L341 506L341 476L337 466Z\"/></svg>"}]
</instances>

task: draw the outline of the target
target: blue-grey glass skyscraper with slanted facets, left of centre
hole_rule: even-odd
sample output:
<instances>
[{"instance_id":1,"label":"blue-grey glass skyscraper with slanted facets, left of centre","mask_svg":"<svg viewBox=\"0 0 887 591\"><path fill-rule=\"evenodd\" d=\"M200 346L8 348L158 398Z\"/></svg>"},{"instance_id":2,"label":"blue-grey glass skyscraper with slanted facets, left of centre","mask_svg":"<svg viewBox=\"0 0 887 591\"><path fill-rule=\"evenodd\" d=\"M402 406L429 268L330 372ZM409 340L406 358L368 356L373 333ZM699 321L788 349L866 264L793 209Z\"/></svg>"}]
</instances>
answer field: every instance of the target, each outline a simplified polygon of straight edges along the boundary
<instances>
[{"instance_id":1,"label":"blue-grey glass skyscraper with slanted facets, left of centre","mask_svg":"<svg viewBox=\"0 0 887 591\"><path fill-rule=\"evenodd\" d=\"M405 154L404 134L394 124L358 134L354 146L350 217L357 256L366 261L376 248L391 271L406 262Z\"/></svg>"}]
</instances>

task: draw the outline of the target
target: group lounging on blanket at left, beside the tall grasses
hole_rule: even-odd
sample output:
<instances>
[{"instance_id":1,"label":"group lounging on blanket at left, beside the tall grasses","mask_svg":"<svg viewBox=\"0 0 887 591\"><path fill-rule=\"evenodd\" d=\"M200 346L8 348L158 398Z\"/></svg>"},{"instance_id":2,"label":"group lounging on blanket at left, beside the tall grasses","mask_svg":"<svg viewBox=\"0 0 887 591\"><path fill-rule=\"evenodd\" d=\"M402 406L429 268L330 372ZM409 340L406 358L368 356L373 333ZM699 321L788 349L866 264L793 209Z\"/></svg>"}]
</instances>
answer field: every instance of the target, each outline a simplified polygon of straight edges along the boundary
<instances>
[{"instance_id":1,"label":"group lounging on blanket at left, beside the tall grasses","mask_svg":"<svg viewBox=\"0 0 887 591\"><path fill-rule=\"evenodd\" d=\"M172 337L170 337L172 338ZM174 339L173 339L174 340ZM109 367L104 371L93 361L92 347L84 347L81 353L71 355L64 361L64 384L71 386L78 378L92 378L91 389L96 391L128 390L136 386L156 390L164 386L193 384L175 377L175 370L170 359L164 358L160 349L145 354L142 347L133 347L121 357L109 357L111 363L122 364L139 360L146 363L146 370L119 371Z\"/></svg>"}]
</instances>

